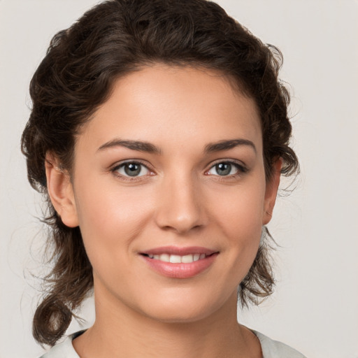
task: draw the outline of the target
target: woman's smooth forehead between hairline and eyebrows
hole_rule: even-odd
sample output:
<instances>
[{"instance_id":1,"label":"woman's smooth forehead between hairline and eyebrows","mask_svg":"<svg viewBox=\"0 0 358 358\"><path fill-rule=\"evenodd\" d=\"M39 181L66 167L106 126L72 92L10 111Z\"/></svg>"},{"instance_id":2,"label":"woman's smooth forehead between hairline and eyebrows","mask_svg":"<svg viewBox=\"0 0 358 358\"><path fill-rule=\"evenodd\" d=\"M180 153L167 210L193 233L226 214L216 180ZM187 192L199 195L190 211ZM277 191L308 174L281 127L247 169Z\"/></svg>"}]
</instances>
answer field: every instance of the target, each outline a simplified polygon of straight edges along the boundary
<instances>
[{"instance_id":1,"label":"woman's smooth forehead between hairline and eyebrows","mask_svg":"<svg viewBox=\"0 0 358 358\"><path fill-rule=\"evenodd\" d=\"M218 71L155 64L115 81L82 135L99 147L114 137L166 144L243 137L261 148L255 101ZM80 139L80 138L78 138Z\"/></svg>"}]
</instances>

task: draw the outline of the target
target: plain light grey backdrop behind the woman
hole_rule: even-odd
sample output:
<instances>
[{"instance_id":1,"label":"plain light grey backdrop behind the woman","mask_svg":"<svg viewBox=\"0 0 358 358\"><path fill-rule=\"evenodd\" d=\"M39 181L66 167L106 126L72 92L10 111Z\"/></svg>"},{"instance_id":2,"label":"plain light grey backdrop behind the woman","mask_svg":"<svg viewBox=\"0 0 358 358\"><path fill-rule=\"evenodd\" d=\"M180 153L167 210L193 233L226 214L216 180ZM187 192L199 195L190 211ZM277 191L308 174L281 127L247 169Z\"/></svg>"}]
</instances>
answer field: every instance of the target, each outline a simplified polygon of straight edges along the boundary
<instances>
[{"instance_id":1,"label":"plain light grey backdrop behind the woman","mask_svg":"<svg viewBox=\"0 0 358 358\"><path fill-rule=\"evenodd\" d=\"M50 38L97 1L0 0L0 357L36 357L31 315L41 272L41 199L30 189L20 136L28 85ZM358 1L221 0L277 45L292 85L302 173L270 224L278 287L239 320L308 357L358 357ZM31 255L29 254L31 252ZM85 313L93 320L91 302ZM89 322L89 324L90 324ZM78 329L72 324L70 331Z\"/></svg>"}]
</instances>

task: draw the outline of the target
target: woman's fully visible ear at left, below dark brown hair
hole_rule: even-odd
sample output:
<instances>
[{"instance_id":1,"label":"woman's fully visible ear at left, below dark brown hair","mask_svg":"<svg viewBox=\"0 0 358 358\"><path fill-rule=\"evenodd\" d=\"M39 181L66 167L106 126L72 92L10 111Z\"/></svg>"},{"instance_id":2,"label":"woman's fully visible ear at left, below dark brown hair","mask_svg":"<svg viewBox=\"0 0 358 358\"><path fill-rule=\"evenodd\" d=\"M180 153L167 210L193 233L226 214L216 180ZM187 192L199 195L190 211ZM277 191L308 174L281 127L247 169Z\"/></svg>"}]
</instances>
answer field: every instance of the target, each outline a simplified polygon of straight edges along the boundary
<instances>
[{"instance_id":1,"label":"woman's fully visible ear at left, below dark brown hair","mask_svg":"<svg viewBox=\"0 0 358 358\"><path fill-rule=\"evenodd\" d=\"M46 153L45 171L52 205L67 227L78 227L75 196L69 172L61 168L59 159Z\"/></svg>"}]
</instances>

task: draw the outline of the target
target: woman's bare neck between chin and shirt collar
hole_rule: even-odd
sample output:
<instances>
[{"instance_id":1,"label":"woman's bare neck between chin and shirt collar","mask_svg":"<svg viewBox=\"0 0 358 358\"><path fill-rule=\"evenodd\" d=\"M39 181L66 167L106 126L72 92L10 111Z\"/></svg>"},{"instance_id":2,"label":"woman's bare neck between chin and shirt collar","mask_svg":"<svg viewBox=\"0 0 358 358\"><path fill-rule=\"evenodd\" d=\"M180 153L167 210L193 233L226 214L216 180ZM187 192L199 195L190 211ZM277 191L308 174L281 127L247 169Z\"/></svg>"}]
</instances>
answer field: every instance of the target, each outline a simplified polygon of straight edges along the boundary
<instances>
[{"instance_id":1,"label":"woman's bare neck between chin and shirt collar","mask_svg":"<svg viewBox=\"0 0 358 358\"><path fill-rule=\"evenodd\" d=\"M160 322L113 302L96 304L96 322L73 341L80 357L261 357L255 336L236 320L236 293L195 322Z\"/></svg>"}]
</instances>

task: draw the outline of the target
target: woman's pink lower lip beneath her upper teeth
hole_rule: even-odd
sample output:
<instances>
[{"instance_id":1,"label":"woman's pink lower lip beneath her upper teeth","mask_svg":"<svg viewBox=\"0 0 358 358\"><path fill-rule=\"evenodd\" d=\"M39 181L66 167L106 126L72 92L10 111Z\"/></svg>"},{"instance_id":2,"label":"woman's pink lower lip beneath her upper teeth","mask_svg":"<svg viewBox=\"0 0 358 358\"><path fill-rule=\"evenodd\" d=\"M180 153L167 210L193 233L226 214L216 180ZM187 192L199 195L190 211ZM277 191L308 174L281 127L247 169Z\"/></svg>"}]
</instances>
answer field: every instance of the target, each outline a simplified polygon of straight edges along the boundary
<instances>
[{"instance_id":1,"label":"woman's pink lower lip beneath her upper teeth","mask_svg":"<svg viewBox=\"0 0 358 358\"><path fill-rule=\"evenodd\" d=\"M190 262L189 264L172 264L171 262L164 262L158 259L150 259L150 257L143 256L147 264L157 273L170 278L192 278L195 275L205 271L213 264L218 253L210 255L205 259Z\"/></svg>"}]
</instances>

